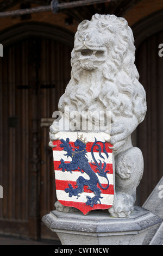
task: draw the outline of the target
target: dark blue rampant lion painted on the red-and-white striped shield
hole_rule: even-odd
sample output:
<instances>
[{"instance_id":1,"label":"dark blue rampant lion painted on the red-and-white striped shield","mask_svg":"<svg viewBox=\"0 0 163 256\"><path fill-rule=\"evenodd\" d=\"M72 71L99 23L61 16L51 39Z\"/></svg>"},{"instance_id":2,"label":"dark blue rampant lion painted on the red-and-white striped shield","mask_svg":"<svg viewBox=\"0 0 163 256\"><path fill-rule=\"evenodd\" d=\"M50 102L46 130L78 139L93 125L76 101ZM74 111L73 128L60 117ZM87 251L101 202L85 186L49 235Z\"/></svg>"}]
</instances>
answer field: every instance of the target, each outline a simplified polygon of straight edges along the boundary
<instances>
[{"instance_id":1,"label":"dark blue rampant lion painted on the red-and-white striped shield","mask_svg":"<svg viewBox=\"0 0 163 256\"><path fill-rule=\"evenodd\" d=\"M76 188L73 188L72 185L69 183L68 187L65 188L65 192L69 193L69 197L77 196L78 198L80 197L79 194L84 192L84 186L87 186L87 189L92 191L95 194L95 196L92 198L90 196L86 196L86 205L90 205L93 208L93 205L96 205L98 203L101 204L100 199L103 198L101 197L101 188L103 190L107 190L109 187L109 180L107 177L107 173L109 173L109 170L105 170L105 162L103 162L103 164L101 160L98 160L99 163L97 162L97 160L95 159L93 149L96 149L96 151L98 151L99 156L102 159L105 159L104 156L101 154L103 147L103 153L108 159L108 153L105 149L105 142L97 141L97 139L95 138L95 142L91 147L91 156L93 159L93 162L91 161L91 164L92 166L96 167L97 174L106 179L106 186L103 187L98 179L98 175L96 175L96 173L92 170L91 165L89 164L89 160L87 159L86 143L84 143L80 139L77 139L74 142L75 148L73 148L69 143L69 138L66 138L66 141L64 139L60 139L60 141L60 147L67 152L65 156L70 156L72 158L72 161L70 163L65 163L63 159L60 160L61 163L59 165L59 168L62 170L62 172L67 171L72 173L72 170L80 170L81 173L86 173L87 175L89 175L90 178L85 179L83 176L79 176L79 178L76 180ZM100 144L98 144L99 142ZM103 144L102 147L101 143Z\"/></svg>"}]
</instances>

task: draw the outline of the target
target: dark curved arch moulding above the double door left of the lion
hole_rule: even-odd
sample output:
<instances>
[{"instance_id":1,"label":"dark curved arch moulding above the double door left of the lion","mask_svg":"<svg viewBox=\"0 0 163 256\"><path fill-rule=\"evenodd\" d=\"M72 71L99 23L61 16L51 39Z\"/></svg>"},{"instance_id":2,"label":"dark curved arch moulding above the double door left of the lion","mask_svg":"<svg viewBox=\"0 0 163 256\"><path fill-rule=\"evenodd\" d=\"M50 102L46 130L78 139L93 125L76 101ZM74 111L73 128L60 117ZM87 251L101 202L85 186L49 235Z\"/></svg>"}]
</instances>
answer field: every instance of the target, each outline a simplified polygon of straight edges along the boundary
<instances>
[{"instance_id":1,"label":"dark curved arch moulding above the double door left of the lion","mask_svg":"<svg viewBox=\"0 0 163 256\"><path fill-rule=\"evenodd\" d=\"M74 34L66 28L43 22L27 22L4 29L0 33L1 44L9 46L29 36L41 36L62 42L73 48Z\"/></svg>"}]
</instances>

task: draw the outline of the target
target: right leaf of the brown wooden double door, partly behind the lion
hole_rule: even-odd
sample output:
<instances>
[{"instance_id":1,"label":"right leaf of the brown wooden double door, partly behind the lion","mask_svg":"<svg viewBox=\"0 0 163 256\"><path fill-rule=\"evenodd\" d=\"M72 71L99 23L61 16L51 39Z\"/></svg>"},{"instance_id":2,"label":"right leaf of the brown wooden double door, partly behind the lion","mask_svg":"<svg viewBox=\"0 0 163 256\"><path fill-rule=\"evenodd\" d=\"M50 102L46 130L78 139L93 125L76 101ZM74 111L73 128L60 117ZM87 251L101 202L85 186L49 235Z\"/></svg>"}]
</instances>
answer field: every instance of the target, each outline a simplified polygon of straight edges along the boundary
<instances>
[{"instance_id":1,"label":"right leaf of the brown wooden double door, partly behind the lion","mask_svg":"<svg viewBox=\"0 0 163 256\"><path fill-rule=\"evenodd\" d=\"M40 66L40 135L41 135L41 190L40 216L54 210L55 179L52 148L48 146L49 125L52 114L58 110L59 97L70 80L71 49L60 42L42 40ZM54 237L54 233L41 223L41 237Z\"/></svg>"}]
</instances>

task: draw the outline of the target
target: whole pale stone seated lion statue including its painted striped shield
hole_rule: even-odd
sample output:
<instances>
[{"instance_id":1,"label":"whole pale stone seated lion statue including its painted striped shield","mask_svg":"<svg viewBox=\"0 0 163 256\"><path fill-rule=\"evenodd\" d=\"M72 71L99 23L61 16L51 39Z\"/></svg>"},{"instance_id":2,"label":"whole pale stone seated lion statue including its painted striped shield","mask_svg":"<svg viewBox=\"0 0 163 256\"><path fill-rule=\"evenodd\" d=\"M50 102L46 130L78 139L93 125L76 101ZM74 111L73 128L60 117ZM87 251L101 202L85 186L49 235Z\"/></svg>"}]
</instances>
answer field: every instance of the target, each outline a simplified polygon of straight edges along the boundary
<instances>
[{"instance_id":1,"label":"whole pale stone seated lion statue including its painted striped shield","mask_svg":"<svg viewBox=\"0 0 163 256\"><path fill-rule=\"evenodd\" d=\"M110 216L129 217L143 174L143 156L133 147L131 133L146 114L146 93L134 64L133 32L122 17L96 14L79 24L71 57L71 80L58 105L60 119L49 133L55 206L58 211L79 209L84 214L108 209ZM88 144L82 144L82 136ZM93 150L98 141L100 147Z\"/></svg>"}]
</instances>

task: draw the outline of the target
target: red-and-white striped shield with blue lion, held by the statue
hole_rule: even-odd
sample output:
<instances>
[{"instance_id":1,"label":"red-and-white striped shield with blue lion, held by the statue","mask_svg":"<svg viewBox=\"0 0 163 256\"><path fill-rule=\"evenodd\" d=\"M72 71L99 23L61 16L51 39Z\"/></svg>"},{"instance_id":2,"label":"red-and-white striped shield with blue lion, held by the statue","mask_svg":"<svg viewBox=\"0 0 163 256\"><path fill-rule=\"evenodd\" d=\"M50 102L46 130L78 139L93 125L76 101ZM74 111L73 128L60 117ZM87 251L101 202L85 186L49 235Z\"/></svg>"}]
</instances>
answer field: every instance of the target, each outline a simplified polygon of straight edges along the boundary
<instances>
[{"instance_id":1,"label":"red-and-white striped shield with blue lion, held by the statue","mask_svg":"<svg viewBox=\"0 0 163 256\"><path fill-rule=\"evenodd\" d=\"M104 132L58 132L53 141L58 201L79 209L109 209L114 202L114 156Z\"/></svg>"}]
</instances>

